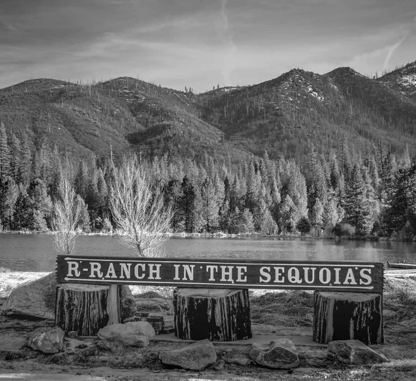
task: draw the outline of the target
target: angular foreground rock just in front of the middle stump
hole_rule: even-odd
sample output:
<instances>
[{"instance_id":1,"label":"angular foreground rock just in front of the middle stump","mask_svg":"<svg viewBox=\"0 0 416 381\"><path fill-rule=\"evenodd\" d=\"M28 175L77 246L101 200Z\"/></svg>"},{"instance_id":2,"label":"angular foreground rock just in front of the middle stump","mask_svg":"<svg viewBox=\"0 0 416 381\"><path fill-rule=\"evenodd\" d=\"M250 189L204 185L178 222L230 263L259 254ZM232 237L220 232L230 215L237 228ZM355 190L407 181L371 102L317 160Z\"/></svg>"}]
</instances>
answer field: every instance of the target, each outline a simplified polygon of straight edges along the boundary
<instances>
[{"instance_id":1,"label":"angular foreground rock just in front of the middle stump","mask_svg":"<svg viewBox=\"0 0 416 381\"><path fill-rule=\"evenodd\" d=\"M166 350L159 359L166 365L180 366L189 371L202 371L216 362L214 345L208 339L196 341L180 349Z\"/></svg>"}]
</instances>

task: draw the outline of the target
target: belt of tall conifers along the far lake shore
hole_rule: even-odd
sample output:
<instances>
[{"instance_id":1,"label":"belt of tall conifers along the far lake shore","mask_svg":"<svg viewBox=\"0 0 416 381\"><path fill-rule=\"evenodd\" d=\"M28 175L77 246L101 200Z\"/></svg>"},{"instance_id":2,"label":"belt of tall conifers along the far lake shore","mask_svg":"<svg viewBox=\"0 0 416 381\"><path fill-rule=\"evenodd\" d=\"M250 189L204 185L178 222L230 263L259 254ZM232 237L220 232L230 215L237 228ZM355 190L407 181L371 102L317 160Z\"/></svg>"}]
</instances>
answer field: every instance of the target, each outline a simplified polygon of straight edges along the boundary
<instances>
[{"instance_id":1,"label":"belt of tall conifers along the far lake shore","mask_svg":"<svg viewBox=\"0 0 416 381\"><path fill-rule=\"evenodd\" d=\"M137 155L153 197L172 208L173 232L263 235L416 235L416 162L383 146L356 152L345 137L329 155L309 146L306 164ZM76 195L78 230L119 228L110 196L121 160L75 159L0 124L0 224L3 230L53 229L54 203L67 178ZM113 186L112 186L113 184Z\"/></svg>"}]
</instances>

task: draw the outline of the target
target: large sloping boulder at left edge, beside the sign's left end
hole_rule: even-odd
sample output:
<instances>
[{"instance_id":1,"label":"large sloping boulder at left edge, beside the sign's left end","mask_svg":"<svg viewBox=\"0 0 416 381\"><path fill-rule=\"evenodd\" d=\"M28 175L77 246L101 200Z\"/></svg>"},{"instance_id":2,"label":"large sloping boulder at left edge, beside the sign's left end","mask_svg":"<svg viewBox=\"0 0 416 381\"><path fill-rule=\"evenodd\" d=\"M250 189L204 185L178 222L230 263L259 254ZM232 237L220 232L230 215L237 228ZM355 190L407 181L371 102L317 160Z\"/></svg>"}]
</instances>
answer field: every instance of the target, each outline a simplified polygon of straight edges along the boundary
<instances>
[{"instance_id":1,"label":"large sloping boulder at left edge, beside the sign's left end","mask_svg":"<svg viewBox=\"0 0 416 381\"><path fill-rule=\"evenodd\" d=\"M55 272L14 289L1 307L6 315L55 319Z\"/></svg>"}]
</instances>

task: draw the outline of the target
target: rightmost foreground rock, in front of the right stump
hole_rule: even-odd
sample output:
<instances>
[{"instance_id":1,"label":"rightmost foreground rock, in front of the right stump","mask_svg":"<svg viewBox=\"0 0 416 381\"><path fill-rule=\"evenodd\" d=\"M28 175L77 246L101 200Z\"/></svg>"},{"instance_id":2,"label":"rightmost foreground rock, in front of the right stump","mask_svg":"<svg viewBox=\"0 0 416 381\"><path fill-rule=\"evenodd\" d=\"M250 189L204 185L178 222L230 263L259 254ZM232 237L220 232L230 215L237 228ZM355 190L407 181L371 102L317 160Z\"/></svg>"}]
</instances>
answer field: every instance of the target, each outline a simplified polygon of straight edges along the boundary
<instances>
[{"instance_id":1,"label":"rightmost foreground rock, in front of the right stump","mask_svg":"<svg viewBox=\"0 0 416 381\"><path fill-rule=\"evenodd\" d=\"M336 340L328 346L328 358L342 364L376 364L388 362L387 357L368 348L359 340Z\"/></svg>"}]
</instances>

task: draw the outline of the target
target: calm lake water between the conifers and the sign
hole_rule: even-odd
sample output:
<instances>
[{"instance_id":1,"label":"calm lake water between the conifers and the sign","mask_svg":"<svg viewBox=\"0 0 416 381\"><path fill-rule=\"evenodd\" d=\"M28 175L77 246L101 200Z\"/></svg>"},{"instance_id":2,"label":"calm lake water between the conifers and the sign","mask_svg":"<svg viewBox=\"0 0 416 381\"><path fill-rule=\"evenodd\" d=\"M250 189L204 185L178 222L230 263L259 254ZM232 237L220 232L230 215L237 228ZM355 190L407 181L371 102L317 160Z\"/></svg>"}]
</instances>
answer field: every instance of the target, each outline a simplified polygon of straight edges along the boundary
<instances>
[{"instance_id":1,"label":"calm lake water between the conifers and the sign","mask_svg":"<svg viewBox=\"0 0 416 381\"><path fill-rule=\"evenodd\" d=\"M366 260L416 262L416 244L280 237L172 237L164 245L169 257L264 260ZM119 239L82 235L75 254L134 256ZM51 235L0 234L0 267L12 271L53 271L56 252Z\"/></svg>"}]
</instances>

